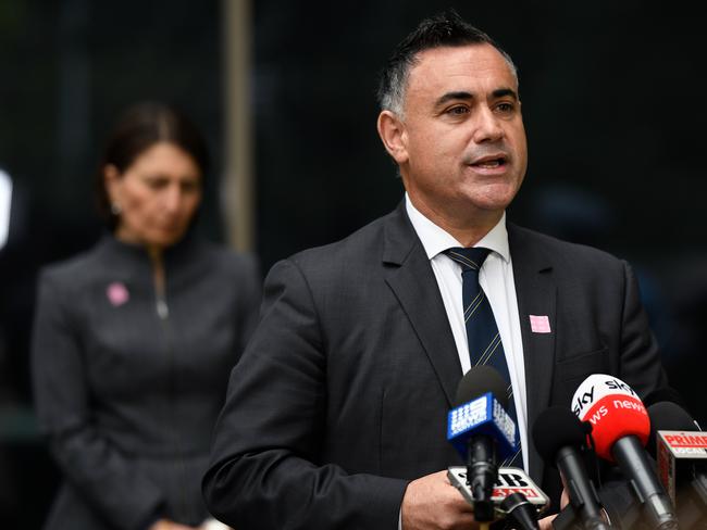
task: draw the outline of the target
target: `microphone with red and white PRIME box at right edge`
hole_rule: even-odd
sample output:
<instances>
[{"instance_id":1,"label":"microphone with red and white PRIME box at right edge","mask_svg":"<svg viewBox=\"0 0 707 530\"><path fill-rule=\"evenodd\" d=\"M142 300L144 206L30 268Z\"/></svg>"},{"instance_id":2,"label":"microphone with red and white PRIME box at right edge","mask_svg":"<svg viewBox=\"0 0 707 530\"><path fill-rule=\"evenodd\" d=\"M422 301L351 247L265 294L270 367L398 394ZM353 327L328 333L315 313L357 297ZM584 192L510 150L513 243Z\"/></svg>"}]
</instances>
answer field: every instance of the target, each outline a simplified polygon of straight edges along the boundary
<instances>
[{"instance_id":1,"label":"microphone with red and white PRIME box at right edge","mask_svg":"<svg viewBox=\"0 0 707 530\"><path fill-rule=\"evenodd\" d=\"M658 477L678 509L681 529L705 528L707 516L707 433L680 405L648 407L648 447L656 454Z\"/></svg>"}]
</instances>

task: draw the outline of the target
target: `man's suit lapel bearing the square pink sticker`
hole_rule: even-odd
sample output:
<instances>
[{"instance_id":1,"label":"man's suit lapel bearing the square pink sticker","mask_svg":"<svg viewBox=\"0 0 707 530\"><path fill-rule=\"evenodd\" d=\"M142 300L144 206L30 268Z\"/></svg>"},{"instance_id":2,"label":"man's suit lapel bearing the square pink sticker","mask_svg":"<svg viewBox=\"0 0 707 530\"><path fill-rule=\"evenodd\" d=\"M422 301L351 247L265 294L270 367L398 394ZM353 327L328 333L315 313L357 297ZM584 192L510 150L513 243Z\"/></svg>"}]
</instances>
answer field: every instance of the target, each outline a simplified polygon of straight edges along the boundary
<instances>
[{"instance_id":1,"label":"man's suit lapel bearing the square pink sticker","mask_svg":"<svg viewBox=\"0 0 707 530\"><path fill-rule=\"evenodd\" d=\"M544 462L532 442L532 428L539 413L549 405L550 400L557 332L555 306L557 288L549 260L538 252L537 245L529 241L523 229L509 224L508 240L513 261L513 281L523 339L530 475L539 482L543 478ZM533 331L530 315L547 316L550 332Z\"/></svg>"}]
</instances>

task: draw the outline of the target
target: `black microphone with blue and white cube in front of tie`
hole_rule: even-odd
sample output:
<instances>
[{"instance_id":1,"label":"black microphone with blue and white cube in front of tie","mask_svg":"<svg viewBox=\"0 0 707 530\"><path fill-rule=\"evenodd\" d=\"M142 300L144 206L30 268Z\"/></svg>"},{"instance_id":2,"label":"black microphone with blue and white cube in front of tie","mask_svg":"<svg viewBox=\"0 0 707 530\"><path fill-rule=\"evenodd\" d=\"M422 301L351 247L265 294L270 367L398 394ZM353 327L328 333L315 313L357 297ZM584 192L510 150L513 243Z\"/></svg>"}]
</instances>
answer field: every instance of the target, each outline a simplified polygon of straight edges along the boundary
<instances>
[{"instance_id":1,"label":"black microphone with blue and white cube in front of tie","mask_svg":"<svg viewBox=\"0 0 707 530\"><path fill-rule=\"evenodd\" d=\"M474 519L494 520L492 500L497 458L516 454L518 430L506 412L507 383L491 366L476 366L457 387L457 406L447 416L447 440L467 463Z\"/></svg>"}]
</instances>

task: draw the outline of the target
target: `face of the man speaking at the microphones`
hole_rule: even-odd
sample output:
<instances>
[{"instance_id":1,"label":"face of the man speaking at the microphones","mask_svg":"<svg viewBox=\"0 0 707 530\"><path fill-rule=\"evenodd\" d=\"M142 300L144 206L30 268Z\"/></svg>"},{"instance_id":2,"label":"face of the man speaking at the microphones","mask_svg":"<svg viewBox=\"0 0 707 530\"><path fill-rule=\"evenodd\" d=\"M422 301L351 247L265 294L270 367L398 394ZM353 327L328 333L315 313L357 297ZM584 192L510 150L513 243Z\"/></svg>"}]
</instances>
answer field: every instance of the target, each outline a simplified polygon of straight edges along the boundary
<instances>
[{"instance_id":1,"label":"face of the man speaking at the microphones","mask_svg":"<svg viewBox=\"0 0 707 530\"><path fill-rule=\"evenodd\" d=\"M413 204L452 223L500 217L528 165L510 65L486 43L436 48L418 59L396 156Z\"/></svg>"}]
</instances>

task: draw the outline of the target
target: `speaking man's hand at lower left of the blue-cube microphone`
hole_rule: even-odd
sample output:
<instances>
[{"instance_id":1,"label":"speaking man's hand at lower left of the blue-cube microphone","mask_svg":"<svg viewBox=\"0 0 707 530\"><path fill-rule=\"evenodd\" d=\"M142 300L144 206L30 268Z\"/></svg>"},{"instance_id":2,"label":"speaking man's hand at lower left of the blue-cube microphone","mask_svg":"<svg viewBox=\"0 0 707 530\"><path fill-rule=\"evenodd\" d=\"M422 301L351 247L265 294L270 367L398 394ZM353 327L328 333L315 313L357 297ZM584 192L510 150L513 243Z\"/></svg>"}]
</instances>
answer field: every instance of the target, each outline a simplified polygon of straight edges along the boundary
<instances>
[{"instance_id":1,"label":"speaking man's hand at lower left of the blue-cube microphone","mask_svg":"<svg viewBox=\"0 0 707 530\"><path fill-rule=\"evenodd\" d=\"M461 493L438 471L408 484L400 507L402 530L469 530L474 514Z\"/></svg>"}]
</instances>

